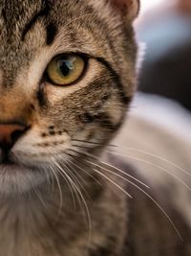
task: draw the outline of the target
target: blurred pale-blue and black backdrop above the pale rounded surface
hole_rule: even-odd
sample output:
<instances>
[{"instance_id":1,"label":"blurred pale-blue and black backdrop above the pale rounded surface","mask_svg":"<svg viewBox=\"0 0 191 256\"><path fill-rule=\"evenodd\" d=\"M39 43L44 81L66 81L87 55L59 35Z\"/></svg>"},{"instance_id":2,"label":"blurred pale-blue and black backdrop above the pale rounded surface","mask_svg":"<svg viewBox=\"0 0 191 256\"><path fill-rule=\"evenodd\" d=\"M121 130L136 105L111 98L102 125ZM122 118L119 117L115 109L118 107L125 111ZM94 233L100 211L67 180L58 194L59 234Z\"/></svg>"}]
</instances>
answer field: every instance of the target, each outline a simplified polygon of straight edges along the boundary
<instances>
[{"instance_id":1,"label":"blurred pale-blue and black backdrop above the pale rounded surface","mask_svg":"<svg viewBox=\"0 0 191 256\"><path fill-rule=\"evenodd\" d=\"M146 53L138 88L191 110L191 0L140 2L136 30Z\"/></svg>"}]
</instances>

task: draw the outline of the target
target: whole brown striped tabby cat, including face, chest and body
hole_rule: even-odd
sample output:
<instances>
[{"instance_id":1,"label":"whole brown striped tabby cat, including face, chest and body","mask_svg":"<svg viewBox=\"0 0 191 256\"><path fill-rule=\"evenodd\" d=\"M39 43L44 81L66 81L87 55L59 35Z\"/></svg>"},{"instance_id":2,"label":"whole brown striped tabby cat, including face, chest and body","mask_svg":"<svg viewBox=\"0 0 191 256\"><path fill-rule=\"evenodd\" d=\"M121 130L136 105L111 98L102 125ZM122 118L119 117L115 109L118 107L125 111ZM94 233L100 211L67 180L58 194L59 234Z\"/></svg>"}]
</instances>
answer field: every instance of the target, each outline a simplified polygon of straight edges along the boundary
<instances>
[{"instance_id":1,"label":"whole brown striped tabby cat, including face, chest and body","mask_svg":"<svg viewBox=\"0 0 191 256\"><path fill-rule=\"evenodd\" d=\"M136 91L138 9L0 0L0 256L170 255L168 240L180 255L158 209L138 190L130 201L128 174L100 158Z\"/></svg>"}]
</instances>

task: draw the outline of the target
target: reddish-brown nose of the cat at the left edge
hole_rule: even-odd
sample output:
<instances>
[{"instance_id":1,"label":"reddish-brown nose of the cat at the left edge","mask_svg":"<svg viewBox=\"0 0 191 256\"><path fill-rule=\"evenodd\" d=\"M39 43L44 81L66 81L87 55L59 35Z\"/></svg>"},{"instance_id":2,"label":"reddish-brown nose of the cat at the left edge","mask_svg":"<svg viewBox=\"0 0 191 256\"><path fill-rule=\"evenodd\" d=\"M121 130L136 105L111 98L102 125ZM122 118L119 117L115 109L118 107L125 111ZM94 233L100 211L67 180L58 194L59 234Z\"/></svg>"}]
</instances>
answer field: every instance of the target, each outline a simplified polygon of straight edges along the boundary
<instances>
[{"instance_id":1,"label":"reddish-brown nose of the cat at the left edge","mask_svg":"<svg viewBox=\"0 0 191 256\"><path fill-rule=\"evenodd\" d=\"M0 124L0 148L4 152L11 150L15 142L28 129L25 125L20 124Z\"/></svg>"}]
</instances>

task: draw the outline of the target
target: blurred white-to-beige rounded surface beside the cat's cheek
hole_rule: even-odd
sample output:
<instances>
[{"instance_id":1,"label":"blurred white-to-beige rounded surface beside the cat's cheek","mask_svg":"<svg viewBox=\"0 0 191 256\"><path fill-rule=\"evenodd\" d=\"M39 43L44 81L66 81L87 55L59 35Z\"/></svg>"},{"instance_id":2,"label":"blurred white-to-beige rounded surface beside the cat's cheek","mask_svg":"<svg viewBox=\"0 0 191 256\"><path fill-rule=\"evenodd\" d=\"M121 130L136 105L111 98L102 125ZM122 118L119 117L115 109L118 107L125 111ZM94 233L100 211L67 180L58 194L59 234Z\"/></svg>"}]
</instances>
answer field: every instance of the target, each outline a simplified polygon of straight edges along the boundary
<instances>
[{"instance_id":1,"label":"blurred white-to-beige rounded surface beside the cat's cheek","mask_svg":"<svg viewBox=\"0 0 191 256\"><path fill-rule=\"evenodd\" d=\"M180 105L138 93L113 144L117 157L132 164L151 191L158 189L191 225L190 129L191 113Z\"/></svg>"}]
</instances>

